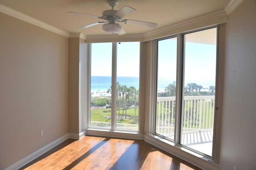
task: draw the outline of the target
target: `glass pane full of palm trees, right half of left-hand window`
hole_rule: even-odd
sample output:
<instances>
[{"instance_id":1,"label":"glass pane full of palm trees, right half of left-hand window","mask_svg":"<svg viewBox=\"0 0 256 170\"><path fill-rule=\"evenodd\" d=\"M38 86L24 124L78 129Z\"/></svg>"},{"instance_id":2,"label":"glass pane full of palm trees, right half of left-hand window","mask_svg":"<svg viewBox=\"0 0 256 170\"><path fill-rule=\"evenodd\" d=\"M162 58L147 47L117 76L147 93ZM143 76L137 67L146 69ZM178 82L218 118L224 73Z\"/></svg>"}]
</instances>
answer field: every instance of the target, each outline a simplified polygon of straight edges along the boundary
<instances>
[{"instance_id":1,"label":"glass pane full of palm trees, right half of left-hand window","mask_svg":"<svg viewBox=\"0 0 256 170\"><path fill-rule=\"evenodd\" d=\"M117 44L116 76L116 129L138 131L140 42Z\"/></svg>"}]
</instances>

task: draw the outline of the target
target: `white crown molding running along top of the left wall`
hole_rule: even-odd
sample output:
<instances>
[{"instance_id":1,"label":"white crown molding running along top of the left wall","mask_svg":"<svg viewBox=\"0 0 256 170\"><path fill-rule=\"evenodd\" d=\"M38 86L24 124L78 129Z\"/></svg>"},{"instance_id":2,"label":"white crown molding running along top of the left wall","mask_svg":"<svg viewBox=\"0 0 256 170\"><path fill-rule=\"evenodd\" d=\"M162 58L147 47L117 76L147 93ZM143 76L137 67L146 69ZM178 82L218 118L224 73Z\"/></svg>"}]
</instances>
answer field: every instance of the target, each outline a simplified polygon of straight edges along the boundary
<instances>
[{"instance_id":1,"label":"white crown molding running along top of the left wall","mask_svg":"<svg viewBox=\"0 0 256 170\"><path fill-rule=\"evenodd\" d=\"M12 16L14 18L17 18L19 20L31 23L31 24L36 25L38 27L47 29L48 31L52 31L52 32L57 33L59 35L62 35L64 37L69 37L70 36L70 33L66 32L66 31L63 31L63 30L58 29L58 28L56 28L56 27L54 27L52 25L49 25L49 24L44 23L44 22L42 22L40 20L32 18L32 17L30 17L30 16L28 16L26 14L23 14L21 12L13 10L12 8L4 6L3 4L0 4L0 12L2 12L4 14L7 14L9 16Z\"/></svg>"}]
</instances>

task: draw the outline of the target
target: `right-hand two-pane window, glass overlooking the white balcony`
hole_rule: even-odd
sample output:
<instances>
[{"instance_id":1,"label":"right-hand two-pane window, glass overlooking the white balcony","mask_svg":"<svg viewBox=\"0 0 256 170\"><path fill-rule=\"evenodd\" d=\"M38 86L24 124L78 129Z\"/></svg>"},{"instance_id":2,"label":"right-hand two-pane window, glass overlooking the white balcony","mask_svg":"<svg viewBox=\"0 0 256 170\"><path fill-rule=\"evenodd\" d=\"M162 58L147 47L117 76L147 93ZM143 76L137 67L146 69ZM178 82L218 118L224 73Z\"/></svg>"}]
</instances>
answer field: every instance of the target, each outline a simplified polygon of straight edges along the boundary
<instances>
[{"instance_id":1,"label":"right-hand two-pane window, glass overlooking the white balcony","mask_svg":"<svg viewBox=\"0 0 256 170\"><path fill-rule=\"evenodd\" d=\"M157 40L155 134L212 157L217 28L177 37Z\"/></svg>"}]
</instances>

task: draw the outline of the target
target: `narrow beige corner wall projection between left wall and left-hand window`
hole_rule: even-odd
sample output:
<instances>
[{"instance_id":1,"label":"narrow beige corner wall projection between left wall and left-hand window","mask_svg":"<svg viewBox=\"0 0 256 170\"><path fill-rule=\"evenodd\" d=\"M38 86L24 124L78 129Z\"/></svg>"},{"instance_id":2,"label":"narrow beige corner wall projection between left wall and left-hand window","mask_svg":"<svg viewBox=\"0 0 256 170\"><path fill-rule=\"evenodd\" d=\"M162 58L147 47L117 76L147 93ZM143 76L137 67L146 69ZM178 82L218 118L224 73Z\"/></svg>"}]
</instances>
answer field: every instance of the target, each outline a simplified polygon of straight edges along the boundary
<instances>
[{"instance_id":1,"label":"narrow beige corner wall projection between left wall and left-hand window","mask_svg":"<svg viewBox=\"0 0 256 170\"><path fill-rule=\"evenodd\" d=\"M79 37L70 38L68 56L69 133L79 138L87 127L88 44Z\"/></svg>"}]
</instances>

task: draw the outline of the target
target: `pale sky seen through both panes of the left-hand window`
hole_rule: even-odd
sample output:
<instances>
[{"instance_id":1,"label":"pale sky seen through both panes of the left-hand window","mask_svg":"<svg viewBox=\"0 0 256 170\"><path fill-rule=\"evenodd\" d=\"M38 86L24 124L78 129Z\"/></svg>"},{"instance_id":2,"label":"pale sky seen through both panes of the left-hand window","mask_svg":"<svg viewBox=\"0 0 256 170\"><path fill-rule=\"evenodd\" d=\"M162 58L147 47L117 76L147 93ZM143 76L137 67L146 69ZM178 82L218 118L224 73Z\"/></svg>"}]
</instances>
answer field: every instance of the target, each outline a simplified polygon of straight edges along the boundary
<instances>
[{"instance_id":1,"label":"pale sky seen through both panes of the left-hand window","mask_svg":"<svg viewBox=\"0 0 256 170\"><path fill-rule=\"evenodd\" d=\"M112 43L92 44L92 76L112 75ZM117 43L117 76L140 75L140 42Z\"/></svg>"}]
</instances>

